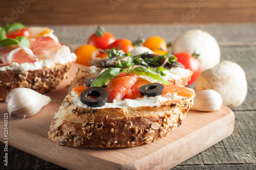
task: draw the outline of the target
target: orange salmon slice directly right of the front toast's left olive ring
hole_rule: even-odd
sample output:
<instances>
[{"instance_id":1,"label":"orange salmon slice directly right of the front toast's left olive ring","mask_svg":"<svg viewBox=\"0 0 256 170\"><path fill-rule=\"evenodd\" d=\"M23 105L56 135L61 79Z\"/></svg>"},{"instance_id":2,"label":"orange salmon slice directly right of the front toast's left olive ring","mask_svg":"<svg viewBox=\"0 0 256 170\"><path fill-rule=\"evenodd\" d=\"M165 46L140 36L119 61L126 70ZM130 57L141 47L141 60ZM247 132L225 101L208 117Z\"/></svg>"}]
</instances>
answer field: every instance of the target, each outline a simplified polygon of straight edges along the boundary
<instances>
[{"instance_id":1,"label":"orange salmon slice directly right of the front toast's left olive ring","mask_svg":"<svg viewBox=\"0 0 256 170\"><path fill-rule=\"evenodd\" d=\"M116 101L121 101L123 96L134 86L138 79L139 76L135 73L126 76L125 74L122 74L111 79L109 86L105 88L109 93L108 102L112 103L114 99Z\"/></svg>"}]
</instances>

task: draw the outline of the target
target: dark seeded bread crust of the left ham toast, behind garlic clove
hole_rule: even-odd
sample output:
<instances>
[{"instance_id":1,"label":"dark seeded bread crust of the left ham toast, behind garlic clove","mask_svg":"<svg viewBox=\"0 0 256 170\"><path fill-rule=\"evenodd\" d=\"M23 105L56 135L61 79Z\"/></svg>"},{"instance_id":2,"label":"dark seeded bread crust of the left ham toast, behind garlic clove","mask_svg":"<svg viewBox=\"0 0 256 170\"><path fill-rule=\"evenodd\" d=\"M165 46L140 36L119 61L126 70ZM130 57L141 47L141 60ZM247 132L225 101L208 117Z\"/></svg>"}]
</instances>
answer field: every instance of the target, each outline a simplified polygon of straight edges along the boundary
<instances>
[{"instance_id":1,"label":"dark seeded bread crust of the left ham toast, behind garlic clove","mask_svg":"<svg viewBox=\"0 0 256 170\"><path fill-rule=\"evenodd\" d=\"M67 78L73 62L42 68L34 71L0 71L0 102L4 102L9 91L27 87L41 94L51 91Z\"/></svg>"}]
</instances>

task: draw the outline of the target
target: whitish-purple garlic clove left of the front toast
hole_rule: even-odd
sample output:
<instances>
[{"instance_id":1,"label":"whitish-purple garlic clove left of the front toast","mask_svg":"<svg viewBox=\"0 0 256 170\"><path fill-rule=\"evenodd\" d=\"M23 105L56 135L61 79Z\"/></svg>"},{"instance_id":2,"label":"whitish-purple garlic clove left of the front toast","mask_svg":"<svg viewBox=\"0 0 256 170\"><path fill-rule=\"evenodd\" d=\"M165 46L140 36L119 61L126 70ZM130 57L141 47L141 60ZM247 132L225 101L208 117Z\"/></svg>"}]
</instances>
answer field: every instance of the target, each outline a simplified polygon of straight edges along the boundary
<instances>
[{"instance_id":1,"label":"whitish-purple garlic clove left of the front toast","mask_svg":"<svg viewBox=\"0 0 256 170\"><path fill-rule=\"evenodd\" d=\"M24 118L36 114L50 101L48 96L23 87L11 90L5 99L10 115Z\"/></svg>"}]
</instances>

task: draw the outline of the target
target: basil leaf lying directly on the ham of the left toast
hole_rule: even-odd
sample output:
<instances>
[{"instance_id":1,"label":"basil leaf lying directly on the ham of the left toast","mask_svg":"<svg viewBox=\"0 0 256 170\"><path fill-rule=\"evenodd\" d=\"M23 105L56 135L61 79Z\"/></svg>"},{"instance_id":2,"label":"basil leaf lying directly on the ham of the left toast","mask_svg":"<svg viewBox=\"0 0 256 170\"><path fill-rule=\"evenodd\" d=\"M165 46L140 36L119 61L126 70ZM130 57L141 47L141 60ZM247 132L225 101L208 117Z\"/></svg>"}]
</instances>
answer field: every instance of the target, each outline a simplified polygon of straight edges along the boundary
<instances>
[{"instance_id":1,"label":"basil leaf lying directly on the ham of the left toast","mask_svg":"<svg viewBox=\"0 0 256 170\"><path fill-rule=\"evenodd\" d=\"M8 45L19 45L20 47L29 47L30 42L27 37L19 36L14 38L6 38L0 41L0 47Z\"/></svg>"}]
</instances>

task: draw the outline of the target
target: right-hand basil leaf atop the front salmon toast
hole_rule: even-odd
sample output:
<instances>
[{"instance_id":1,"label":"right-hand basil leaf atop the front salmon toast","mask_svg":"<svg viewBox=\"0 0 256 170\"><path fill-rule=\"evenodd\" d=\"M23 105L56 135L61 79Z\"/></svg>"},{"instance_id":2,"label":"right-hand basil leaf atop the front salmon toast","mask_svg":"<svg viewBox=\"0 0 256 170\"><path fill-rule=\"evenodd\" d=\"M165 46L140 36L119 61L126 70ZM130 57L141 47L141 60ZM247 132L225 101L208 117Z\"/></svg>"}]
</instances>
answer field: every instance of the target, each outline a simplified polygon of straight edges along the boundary
<instances>
[{"instance_id":1,"label":"right-hand basil leaf atop the front salmon toast","mask_svg":"<svg viewBox=\"0 0 256 170\"><path fill-rule=\"evenodd\" d=\"M170 84L167 80L165 80L164 77L162 77L161 75L157 74L156 72L147 69L146 67L135 67L134 69L131 70L131 72L134 72L135 74L139 75L139 76L147 76L151 79L155 79L161 83L164 84Z\"/></svg>"}]
</instances>

